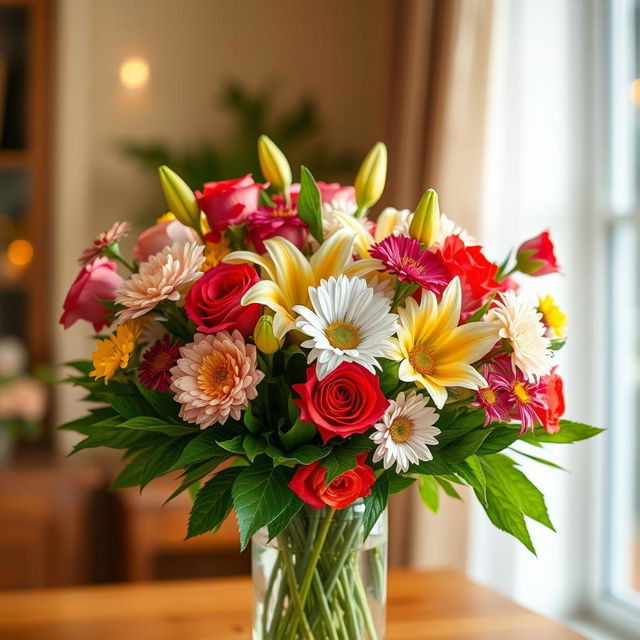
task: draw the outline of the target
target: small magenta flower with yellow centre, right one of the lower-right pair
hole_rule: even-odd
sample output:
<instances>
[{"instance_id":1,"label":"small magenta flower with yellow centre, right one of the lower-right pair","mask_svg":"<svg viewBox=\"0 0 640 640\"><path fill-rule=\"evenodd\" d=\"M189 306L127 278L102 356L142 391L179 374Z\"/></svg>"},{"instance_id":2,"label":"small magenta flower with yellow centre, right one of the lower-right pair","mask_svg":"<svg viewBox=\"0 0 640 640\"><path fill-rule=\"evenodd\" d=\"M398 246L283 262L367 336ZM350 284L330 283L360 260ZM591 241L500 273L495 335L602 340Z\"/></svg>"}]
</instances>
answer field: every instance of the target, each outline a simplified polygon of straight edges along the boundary
<instances>
[{"instance_id":1,"label":"small magenta flower with yellow centre, right one of the lower-right pair","mask_svg":"<svg viewBox=\"0 0 640 640\"><path fill-rule=\"evenodd\" d=\"M511 415L522 424L520 433L527 429L533 432L539 422L537 411L546 408L546 385L527 380L506 357L497 360L490 377L495 387L504 390Z\"/></svg>"}]
</instances>

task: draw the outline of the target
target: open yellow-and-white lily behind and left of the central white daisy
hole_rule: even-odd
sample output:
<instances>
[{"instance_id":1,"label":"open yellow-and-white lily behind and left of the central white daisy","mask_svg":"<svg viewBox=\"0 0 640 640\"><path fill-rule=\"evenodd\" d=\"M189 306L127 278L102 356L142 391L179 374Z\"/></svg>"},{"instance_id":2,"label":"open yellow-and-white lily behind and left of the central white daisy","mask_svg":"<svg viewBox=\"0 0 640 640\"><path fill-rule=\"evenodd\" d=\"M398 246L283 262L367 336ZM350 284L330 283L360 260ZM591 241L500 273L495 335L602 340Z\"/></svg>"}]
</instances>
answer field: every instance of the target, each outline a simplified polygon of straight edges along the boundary
<instances>
[{"instance_id":1,"label":"open yellow-and-white lily behind and left of the central white daisy","mask_svg":"<svg viewBox=\"0 0 640 640\"><path fill-rule=\"evenodd\" d=\"M353 260L355 236L341 229L324 242L309 260L285 238L270 238L264 241L267 255L253 251L234 251L224 262L252 262L260 266L263 278L242 298L242 304L262 304L274 312L273 333L282 339L295 328L297 304L309 305L309 287L317 287L320 280L345 274L362 277L378 268L374 260Z\"/></svg>"}]
</instances>

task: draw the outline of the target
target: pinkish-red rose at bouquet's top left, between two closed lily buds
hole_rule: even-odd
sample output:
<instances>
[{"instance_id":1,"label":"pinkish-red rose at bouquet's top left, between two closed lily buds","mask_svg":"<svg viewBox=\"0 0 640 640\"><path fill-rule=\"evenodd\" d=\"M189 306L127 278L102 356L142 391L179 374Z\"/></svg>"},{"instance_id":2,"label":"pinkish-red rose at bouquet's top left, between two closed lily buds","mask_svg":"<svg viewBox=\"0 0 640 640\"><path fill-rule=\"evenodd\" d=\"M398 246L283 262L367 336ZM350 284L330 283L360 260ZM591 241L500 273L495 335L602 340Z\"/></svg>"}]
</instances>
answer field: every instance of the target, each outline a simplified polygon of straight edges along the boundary
<instances>
[{"instance_id":1,"label":"pinkish-red rose at bouquet's top left, between two closed lily buds","mask_svg":"<svg viewBox=\"0 0 640 640\"><path fill-rule=\"evenodd\" d=\"M249 173L233 180L206 182L204 193L196 191L196 197L211 229L220 232L257 210L262 189L264 186L255 182Z\"/></svg>"}]
</instances>

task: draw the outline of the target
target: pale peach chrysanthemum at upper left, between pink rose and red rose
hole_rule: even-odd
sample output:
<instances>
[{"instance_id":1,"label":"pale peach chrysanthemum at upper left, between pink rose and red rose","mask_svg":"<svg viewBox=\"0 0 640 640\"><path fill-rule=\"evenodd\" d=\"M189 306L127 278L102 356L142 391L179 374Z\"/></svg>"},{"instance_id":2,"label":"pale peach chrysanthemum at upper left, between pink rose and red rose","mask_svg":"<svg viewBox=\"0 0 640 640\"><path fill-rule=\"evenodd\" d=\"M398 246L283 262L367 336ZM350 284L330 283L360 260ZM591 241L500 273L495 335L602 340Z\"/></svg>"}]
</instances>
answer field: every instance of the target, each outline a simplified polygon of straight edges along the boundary
<instances>
[{"instance_id":1,"label":"pale peach chrysanthemum at upper left, between pink rose and red rose","mask_svg":"<svg viewBox=\"0 0 640 640\"><path fill-rule=\"evenodd\" d=\"M120 286L116 302L121 322L138 318L165 300L180 300L187 285L203 275L204 246L197 242L175 242L152 255Z\"/></svg>"}]
</instances>

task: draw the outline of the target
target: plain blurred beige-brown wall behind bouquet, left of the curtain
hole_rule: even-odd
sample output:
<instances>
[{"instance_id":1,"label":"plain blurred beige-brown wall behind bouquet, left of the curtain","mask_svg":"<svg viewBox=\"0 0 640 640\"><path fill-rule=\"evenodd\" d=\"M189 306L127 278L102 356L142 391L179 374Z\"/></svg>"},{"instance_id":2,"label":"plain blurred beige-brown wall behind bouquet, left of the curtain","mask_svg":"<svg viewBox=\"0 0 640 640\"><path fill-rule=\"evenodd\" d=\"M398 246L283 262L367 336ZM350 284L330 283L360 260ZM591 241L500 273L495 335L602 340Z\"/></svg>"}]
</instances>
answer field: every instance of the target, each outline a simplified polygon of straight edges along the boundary
<instances>
[{"instance_id":1,"label":"plain blurred beige-brown wall behind bouquet, left of the curtain","mask_svg":"<svg viewBox=\"0 0 640 640\"><path fill-rule=\"evenodd\" d=\"M117 141L223 139L228 120L212 104L232 78L273 86L284 107L314 96L327 143L366 148L384 135L389 13L388 0L60 0L52 320L81 247L157 189ZM141 90L119 84L132 55L151 65ZM90 352L86 326L54 332L59 361ZM63 392L60 418L80 410Z\"/></svg>"}]
</instances>

